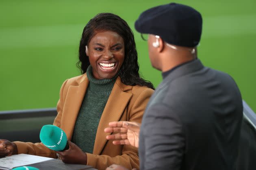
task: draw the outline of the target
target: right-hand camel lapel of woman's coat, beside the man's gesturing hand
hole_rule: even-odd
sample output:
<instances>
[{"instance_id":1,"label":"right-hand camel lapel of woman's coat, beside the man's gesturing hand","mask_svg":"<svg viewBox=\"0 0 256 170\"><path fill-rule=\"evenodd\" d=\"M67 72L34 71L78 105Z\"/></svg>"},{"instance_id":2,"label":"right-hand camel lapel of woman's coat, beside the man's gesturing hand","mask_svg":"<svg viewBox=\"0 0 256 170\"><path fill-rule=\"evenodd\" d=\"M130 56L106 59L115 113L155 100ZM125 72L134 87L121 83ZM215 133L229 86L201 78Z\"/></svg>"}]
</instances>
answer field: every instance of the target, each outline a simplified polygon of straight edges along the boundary
<instances>
[{"instance_id":1,"label":"right-hand camel lapel of woman's coat, beside the man's gesturing hand","mask_svg":"<svg viewBox=\"0 0 256 170\"><path fill-rule=\"evenodd\" d=\"M121 83L121 80L118 77L100 118L98 130L95 137L93 154L101 154L107 142L106 136L111 134L105 133L104 128L108 127L109 122L120 120L128 102L132 98L132 94L125 92L128 89L132 89L132 86L124 85L123 83Z\"/></svg>"}]
</instances>

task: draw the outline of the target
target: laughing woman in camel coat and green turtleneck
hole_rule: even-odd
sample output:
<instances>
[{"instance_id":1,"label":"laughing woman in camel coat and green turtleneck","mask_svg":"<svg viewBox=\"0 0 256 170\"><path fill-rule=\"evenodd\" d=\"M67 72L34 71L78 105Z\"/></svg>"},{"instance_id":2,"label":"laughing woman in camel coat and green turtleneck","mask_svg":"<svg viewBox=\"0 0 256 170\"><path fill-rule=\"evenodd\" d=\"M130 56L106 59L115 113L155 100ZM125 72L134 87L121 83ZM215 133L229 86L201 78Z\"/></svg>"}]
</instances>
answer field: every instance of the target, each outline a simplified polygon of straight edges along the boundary
<instances>
[{"instance_id":1,"label":"laughing woman in camel coat and green turtleneck","mask_svg":"<svg viewBox=\"0 0 256 170\"><path fill-rule=\"evenodd\" d=\"M58 152L65 163L106 169L111 164L139 168L138 151L113 145L104 133L111 121L141 122L153 85L139 77L137 51L128 24L100 13L85 26L79 47L82 75L67 79L60 91L54 125L67 135L69 149ZM42 143L0 140L0 156L27 153L56 157Z\"/></svg>"}]
</instances>

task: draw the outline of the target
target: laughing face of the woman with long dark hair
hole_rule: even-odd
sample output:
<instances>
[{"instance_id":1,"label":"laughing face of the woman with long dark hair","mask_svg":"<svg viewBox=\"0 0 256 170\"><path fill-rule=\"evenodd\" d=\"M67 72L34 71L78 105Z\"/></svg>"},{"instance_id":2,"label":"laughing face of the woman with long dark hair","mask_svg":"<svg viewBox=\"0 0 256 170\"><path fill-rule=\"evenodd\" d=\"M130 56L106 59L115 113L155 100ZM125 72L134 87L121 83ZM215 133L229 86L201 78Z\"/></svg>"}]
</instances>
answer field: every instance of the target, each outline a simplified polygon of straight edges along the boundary
<instances>
[{"instance_id":1,"label":"laughing face of the woman with long dark hair","mask_svg":"<svg viewBox=\"0 0 256 170\"><path fill-rule=\"evenodd\" d=\"M116 32L98 32L87 45L86 55L95 79L111 79L124 62L124 40Z\"/></svg>"}]
</instances>

